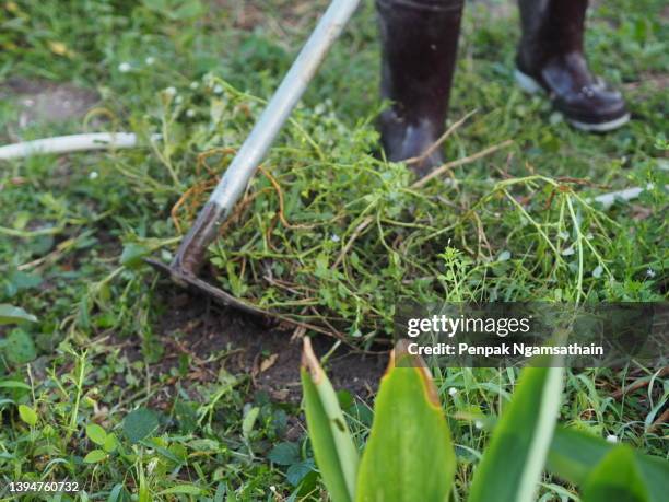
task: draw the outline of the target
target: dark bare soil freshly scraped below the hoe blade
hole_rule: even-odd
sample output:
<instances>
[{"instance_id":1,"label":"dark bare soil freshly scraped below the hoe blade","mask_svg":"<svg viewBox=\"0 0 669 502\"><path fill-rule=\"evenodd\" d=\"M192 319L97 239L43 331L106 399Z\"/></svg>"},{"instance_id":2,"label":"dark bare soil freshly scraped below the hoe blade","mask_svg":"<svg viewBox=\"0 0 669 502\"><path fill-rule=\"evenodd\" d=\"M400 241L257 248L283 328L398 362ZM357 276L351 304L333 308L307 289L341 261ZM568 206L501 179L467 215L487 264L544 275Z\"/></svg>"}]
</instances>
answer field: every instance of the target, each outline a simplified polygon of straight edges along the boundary
<instances>
[{"instance_id":1,"label":"dark bare soil freshly scraped below the hoe blade","mask_svg":"<svg viewBox=\"0 0 669 502\"><path fill-rule=\"evenodd\" d=\"M161 284L157 301L165 305L154 332L165 348L157 371L169 372L179 364L179 355L191 361L189 378L213 382L221 366L232 374L247 374L255 389L267 392L280 402L300 402L300 360L302 340L292 331L271 322L221 307L208 299L185 292L172 282ZM336 340L318 337L314 349L326 354ZM207 359L227 349L230 355L213 362ZM131 360L141 358L138 348L128 347ZM388 363L387 354L363 354L339 347L329 358L326 370L337 389L347 389L368 400Z\"/></svg>"}]
</instances>

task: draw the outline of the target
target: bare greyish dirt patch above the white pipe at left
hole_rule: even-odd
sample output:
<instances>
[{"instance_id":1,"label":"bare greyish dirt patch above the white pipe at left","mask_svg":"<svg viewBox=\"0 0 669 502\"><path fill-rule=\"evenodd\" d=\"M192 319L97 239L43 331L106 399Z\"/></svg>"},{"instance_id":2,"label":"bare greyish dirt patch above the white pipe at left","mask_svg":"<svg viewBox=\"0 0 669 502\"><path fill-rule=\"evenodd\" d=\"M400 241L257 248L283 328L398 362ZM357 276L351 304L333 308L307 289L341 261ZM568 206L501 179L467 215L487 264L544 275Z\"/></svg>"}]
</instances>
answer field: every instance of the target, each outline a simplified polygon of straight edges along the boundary
<instances>
[{"instance_id":1,"label":"bare greyish dirt patch above the white pipe at left","mask_svg":"<svg viewBox=\"0 0 669 502\"><path fill-rule=\"evenodd\" d=\"M96 93L72 84L12 79L0 85L0 100L12 100L20 108L17 127L35 122L81 119L99 102Z\"/></svg>"}]
</instances>

